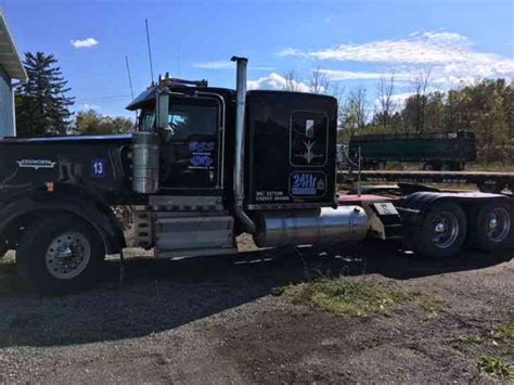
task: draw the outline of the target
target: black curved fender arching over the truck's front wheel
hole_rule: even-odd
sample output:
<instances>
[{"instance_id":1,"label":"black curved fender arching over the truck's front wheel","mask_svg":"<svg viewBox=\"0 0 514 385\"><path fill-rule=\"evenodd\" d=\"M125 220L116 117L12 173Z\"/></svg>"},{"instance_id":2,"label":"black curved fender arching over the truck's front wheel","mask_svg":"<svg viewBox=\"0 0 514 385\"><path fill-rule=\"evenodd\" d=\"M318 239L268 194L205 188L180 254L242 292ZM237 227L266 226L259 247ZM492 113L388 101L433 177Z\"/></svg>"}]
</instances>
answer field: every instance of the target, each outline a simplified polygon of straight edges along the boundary
<instances>
[{"instance_id":1,"label":"black curved fender arching over the truck's front wheel","mask_svg":"<svg viewBox=\"0 0 514 385\"><path fill-rule=\"evenodd\" d=\"M66 190L66 189L63 189ZM87 221L102 238L106 254L117 254L126 247L124 232L111 207L94 195L68 192L40 192L22 197L0 208L0 234L5 234L24 216L70 213ZM89 197L89 198L87 198Z\"/></svg>"}]
</instances>

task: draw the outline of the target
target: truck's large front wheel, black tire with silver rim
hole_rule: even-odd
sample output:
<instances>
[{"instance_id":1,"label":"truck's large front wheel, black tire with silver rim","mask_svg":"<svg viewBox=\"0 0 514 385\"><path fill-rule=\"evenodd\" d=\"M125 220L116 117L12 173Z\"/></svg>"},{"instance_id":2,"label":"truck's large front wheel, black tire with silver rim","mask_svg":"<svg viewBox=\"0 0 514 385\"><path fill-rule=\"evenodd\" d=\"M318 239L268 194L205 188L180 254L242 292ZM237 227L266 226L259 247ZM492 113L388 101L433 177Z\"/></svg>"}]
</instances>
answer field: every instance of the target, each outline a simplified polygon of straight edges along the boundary
<instances>
[{"instance_id":1,"label":"truck's large front wheel, black tire with silver rim","mask_svg":"<svg viewBox=\"0 0 514 385\"><path fill-rule=\"evenodd\" d=\"M39 219L27 229L16 261L22 278L40 294L63 295L92 287L104 256L98 232L79 218L63 214Z\"/></svg>"}]
</instances>

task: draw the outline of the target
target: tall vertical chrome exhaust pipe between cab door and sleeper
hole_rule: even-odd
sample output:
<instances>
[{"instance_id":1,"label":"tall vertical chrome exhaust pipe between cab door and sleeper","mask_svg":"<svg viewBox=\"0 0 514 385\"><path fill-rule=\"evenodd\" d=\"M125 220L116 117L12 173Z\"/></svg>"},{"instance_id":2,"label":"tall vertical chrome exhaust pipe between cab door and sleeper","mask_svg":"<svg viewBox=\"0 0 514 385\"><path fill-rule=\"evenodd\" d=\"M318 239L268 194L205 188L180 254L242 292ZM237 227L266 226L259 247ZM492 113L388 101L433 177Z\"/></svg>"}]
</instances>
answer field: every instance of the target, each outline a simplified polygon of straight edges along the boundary
<instances>
[{"instance_id":1,"label":"tall vertical chrome exhaust pipe between cab door and sleeper","mask_svg":"<svg viewBox=\"0 0 514 385\"><path fill-rule=\"evenodd\" d=\"M246 105L246 57L232 56L236 63L236 100L235 113L235 159L234 159L234 211L236 218L243 223L246 232L253 234L256 230L254 221L244 211L244 140L245 140L245 105Z\"/></svg>"}]
</instances>

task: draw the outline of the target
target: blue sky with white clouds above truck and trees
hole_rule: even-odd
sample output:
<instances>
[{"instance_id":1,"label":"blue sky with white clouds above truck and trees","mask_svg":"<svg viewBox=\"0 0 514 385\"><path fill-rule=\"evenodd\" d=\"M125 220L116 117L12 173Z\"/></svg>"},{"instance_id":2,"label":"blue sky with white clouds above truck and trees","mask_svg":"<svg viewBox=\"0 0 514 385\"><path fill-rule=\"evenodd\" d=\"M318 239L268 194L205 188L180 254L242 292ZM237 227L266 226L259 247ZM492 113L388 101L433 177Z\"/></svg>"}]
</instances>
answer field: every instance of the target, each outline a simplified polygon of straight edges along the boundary
<instances>
[{"instance_id":1,"label":"blue sky with white clouds above truck and trees","mask_svg":"<svg viewBox=\"0 0 514 385\"><path fill-rule=\"evenodd\" d=\"M514 1L83 1L0 0L21 53L53 53L76 97L132 116L134 93L150 84L144 18L154 73L234 87L231 55L249 59L250 88L280 88L294 69L298 87L320 68L345 90L395 73L398 100L429 68L433 88L480 77L514 78Z\"/></svg>"}]
</instances>

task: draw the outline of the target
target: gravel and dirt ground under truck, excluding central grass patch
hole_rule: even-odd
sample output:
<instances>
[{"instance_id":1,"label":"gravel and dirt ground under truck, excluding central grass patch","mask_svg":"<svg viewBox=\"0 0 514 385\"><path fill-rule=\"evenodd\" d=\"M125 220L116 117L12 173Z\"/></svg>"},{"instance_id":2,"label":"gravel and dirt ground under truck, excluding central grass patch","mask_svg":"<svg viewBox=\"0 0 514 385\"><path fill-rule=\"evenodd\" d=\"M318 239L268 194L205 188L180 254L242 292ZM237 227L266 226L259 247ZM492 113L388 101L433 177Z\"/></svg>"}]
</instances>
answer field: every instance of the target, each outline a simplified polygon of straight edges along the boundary
<instances>
[{"instance_id":1,"label":"gravel and dirt ground under truck, excluding central grass patch","mask_svg":"<svg viewBox=\"0 0 514 385\"><path fill-rule=\"evenodd\" d=\"M512 255L434 262L377 243L130 258L123 285L111 260L98 288L56 298L13 270L0 265L12 286L0 286L1 383L483 383L497 380L480 376L481 357L514 363L512 341L491 336L514 321ZM338 274L438 305L349 317L278 295Z\"/></svg>"}]
</instances>

